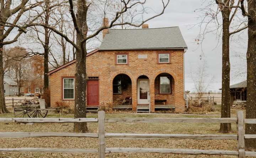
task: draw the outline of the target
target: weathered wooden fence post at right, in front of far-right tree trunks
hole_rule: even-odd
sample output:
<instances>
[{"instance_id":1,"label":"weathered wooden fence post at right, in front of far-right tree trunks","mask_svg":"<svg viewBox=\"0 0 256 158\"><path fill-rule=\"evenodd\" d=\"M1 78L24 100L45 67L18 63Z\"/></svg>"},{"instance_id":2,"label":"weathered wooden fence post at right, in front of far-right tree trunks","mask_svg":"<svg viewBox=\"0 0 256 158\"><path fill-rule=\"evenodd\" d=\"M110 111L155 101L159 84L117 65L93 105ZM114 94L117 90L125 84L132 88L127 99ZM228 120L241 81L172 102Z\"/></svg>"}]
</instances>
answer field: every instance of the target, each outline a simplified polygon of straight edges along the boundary
<instances>
[{"instance_id":1,"label":"weathered wooden fence post at right, in front of far-right tree trunks","mask_svg":"<svg viewBox=\"0 0 256 158\"><path fill-rule=\"evenodd\" d=\"M238 130L238 158L245 158L245 141L244 141L244 113L243 111L237 111L236 116L238 118L237 130Z\"/></svg>"}]
</instances>

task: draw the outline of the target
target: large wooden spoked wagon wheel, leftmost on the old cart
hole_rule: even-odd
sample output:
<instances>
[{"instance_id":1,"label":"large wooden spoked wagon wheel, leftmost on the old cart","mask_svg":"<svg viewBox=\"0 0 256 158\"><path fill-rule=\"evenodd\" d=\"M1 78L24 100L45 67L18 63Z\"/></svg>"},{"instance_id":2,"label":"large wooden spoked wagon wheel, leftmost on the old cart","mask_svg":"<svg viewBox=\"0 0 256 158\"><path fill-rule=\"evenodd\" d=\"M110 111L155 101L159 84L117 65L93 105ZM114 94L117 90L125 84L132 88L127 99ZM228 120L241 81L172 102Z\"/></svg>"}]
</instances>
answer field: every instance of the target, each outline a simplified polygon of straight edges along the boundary
<instances>
[{"instance_id":1,"label":"large wooden spoked wagon wheel, leftmost on the old cart","mask_svg":"<svg viewBox=\"0 0 256 158\"><path fill-rule=\"evenodd\" d=\"M15 117L30 117L36 116L36 105L31 100L18 101L14 106Z\"/></svg>"}]
</instances>

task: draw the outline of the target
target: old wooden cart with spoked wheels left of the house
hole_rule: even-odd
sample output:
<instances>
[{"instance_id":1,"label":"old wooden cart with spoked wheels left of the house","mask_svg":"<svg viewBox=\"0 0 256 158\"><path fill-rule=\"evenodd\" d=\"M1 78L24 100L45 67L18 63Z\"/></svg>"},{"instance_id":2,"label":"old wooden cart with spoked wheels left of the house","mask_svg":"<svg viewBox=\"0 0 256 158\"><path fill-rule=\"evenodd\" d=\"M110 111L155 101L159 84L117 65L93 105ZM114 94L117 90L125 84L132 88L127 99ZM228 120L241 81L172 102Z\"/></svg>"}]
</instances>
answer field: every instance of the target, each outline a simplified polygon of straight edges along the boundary
<instances>
[{"instance_id":1,"label":"old wooden cart with spoked wheels left of the house","mask_svg":"<svg viewBox=\"0 0 256 158\"><path fill-rule=\"evenodd\" d=\"M44 99L18 101L14 106L15 117L46 117L48 111L60 112L64 107L47 107Z\"/></svg>"}]
</instances>

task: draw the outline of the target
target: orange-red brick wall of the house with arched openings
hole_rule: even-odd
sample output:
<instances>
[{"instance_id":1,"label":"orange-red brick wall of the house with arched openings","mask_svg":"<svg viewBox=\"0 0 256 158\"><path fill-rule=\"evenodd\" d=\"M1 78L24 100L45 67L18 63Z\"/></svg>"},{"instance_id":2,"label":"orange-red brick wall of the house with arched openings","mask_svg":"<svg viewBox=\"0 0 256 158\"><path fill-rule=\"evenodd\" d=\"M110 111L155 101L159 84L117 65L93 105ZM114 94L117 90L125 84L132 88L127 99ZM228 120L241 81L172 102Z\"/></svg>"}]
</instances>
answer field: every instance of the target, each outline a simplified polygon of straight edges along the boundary
<instances>
[{"instance_id":1,"label":"orange-red brick wall of the house with arched openings","mask_svg":"<svg viewBox=\"0 0 256 158\"><path fill-rule=\"evenodd\" d=\"M170 63L158 64L157 53L170 53ZM185 110L183 99L183 52L184 50L131 50L131 51L98 51L87 57L87 76L98 76L99 78L99 104L100 106L113 105L113 78L118 74L126 74L132 80L132 107L136 110L137 106L137 78L145 75L149 78L150 84L150 104L151 111L154 112L155 98L155 78L161 73L170 74L174 80L174 89L168 97L175 105L176 111ZM128 53L129 64L116 65L115 54ZM147 54L146 59L138 59L138 54ZM75 63L54 72L50 75L51 106L56 105L56 101L62 100L62 77L75 76ZM161 97L164 97L162 95ZM174 103L173 103L174 101ZM63 101L74 105L74 100ZM168 103L169 103L168 102Z\"/></svg>"}]
</instances>

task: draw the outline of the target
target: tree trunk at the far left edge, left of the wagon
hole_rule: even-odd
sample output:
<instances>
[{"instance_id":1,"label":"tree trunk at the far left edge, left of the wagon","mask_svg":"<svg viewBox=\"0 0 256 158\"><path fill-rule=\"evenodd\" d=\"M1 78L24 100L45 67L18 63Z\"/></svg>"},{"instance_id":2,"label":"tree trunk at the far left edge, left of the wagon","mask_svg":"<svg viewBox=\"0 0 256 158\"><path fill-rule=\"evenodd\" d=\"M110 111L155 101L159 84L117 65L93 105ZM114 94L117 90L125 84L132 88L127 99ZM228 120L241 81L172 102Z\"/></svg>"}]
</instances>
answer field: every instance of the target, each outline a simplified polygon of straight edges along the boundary
<instances>
[{"instance_id":1,"label":"tree trunk at the far left edge, left of the wagon","mask_svg":"<svg viewBox=\"0 0 256 158\"><path fill-rule=\"evenodd\" d=\"M1 31L2 32L2 31ZM3 40L0 40L2 43ZM5 105L5 96L4 96L4 64L3 64L3 45L0 44L0 113L8 113Z\"/></svg>"}]
</instances>

